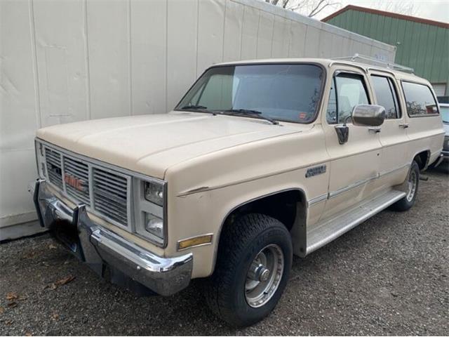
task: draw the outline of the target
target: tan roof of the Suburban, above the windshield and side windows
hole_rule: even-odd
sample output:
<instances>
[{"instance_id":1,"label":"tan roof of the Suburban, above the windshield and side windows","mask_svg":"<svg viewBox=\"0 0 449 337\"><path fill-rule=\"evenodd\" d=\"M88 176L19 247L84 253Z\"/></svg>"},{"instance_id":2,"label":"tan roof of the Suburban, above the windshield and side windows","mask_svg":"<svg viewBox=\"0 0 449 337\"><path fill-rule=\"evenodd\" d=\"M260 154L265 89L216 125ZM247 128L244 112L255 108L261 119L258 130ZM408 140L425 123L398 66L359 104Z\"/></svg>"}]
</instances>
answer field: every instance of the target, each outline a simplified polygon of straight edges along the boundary
<instances>
[{"instance_id":1,"label":"tan roof of the Suburban, above the windshield and side windows","mask_svg":"<svg viewBox=\"0 0 449 337\"><path fill-rule=\"evenodd\" d=\"M217 63L213 66L215 67L221 65L257 65L257 64L276 64L276 63L316 63L319 65L323 65L323 67L325 68L332 67L333 65L348 65L352 67L358 67L359 69L362 69L364 72L368 72L368 70L387 72L389 74L393 74L397 79L420 81L429 84L429 81L423 79L422 77L418 77L415 74L401 72L399 70L394 70L388 67L370 65L363 62L354 62L348 60L333 60L331 58L267 58L261 60L241 60L233 62L222 62Z\"/></svg>"}]
</instances>

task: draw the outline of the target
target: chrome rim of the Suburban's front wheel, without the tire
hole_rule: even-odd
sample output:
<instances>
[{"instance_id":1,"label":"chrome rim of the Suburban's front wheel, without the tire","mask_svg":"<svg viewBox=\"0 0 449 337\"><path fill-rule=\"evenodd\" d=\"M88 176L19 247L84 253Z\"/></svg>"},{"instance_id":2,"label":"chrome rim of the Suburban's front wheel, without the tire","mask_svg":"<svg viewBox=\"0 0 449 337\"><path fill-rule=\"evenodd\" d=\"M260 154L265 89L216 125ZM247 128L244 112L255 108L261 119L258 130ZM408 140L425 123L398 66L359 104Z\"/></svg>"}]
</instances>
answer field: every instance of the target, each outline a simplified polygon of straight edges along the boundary
<instances>
[{"instance_id":1,"label":"chrome rim of the Suburban's front wheel, without the tire","mask_svg":"<svg viewBox=\"0 0 449 337\"><path fill-rule=\"evenodd\" d=\"M250 307L261 307L273 297L283 268L283 252L277 244L269 244L257 253L246 274L245 298Z\"/></svg>"}]
</instances>

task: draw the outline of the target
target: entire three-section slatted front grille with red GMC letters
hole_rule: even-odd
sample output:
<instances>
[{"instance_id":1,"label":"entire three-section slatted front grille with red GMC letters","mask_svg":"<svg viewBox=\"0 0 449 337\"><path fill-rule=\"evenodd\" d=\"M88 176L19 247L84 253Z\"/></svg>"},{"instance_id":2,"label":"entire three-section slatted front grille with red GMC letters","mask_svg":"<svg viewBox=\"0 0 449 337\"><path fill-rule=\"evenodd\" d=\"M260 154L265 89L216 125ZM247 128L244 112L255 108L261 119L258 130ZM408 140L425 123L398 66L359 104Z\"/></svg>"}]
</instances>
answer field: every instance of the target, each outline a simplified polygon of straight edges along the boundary
<instances>
[{"instance_id":1,"label":"entire three-section slatted front grille with red GMC letters","mask_svg":"<svg viewBox=\"0 0 449 337\"><path fill-rule=\"evenodd\" d=\"M130 176L47 146L45 156L50 183L76 203L86 204L94 214L128 227Z\"/></svg>"}]
</instances>

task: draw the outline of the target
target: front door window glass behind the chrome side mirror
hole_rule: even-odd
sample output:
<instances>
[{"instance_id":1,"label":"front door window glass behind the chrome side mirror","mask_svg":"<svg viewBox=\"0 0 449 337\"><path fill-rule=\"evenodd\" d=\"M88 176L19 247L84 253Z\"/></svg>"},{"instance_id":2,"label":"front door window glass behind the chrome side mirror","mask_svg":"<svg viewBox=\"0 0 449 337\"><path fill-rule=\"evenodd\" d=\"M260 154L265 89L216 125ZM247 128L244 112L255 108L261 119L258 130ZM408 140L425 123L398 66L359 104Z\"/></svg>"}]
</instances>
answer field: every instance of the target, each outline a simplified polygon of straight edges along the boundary
<instances>
[{"instance_id":1,"label":"front door window glass behind the chrome side mirror","mask_svg":"<svg viewBox=\"0 0 449 337\"><path fill-rule=\"evenodd\" d=\"M335 100L335 103L333 103ZM329 124L342 124L351 116L356 105L369 104L368 93L363 76L357 74L338 74L330 88L327 111Z\"/></svg>"}]
</instances>

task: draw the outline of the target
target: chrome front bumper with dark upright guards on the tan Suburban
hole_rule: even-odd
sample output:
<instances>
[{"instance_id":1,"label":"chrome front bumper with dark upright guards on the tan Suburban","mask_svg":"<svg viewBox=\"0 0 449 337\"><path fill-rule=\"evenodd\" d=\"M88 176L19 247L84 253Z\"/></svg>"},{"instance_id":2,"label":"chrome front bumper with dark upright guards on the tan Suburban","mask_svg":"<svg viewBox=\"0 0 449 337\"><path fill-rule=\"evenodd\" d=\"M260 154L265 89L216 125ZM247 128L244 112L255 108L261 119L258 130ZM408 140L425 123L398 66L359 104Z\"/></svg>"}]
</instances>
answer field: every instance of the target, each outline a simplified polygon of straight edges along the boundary
<instances>
[{"instance_id":1,"label":"chrome front bumper with dark upright guards on the tan Suburban","mask_svg":"<svg viewBox=\"0 0 449 337\"><path fill-rule=\"evenodd\" d=\"M114 267L163 296L177 293L189 284L192 253L174 258L156 256L93 223L86 205L78 204L71 209L51 193L46 180L37 180L29 186L29 191L33 194L41 225L53 231L72 228L72 234L60 241L101 277L105 276L105 266Z\"/></svg>"}]
</instances>

